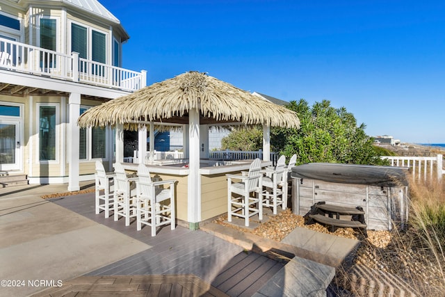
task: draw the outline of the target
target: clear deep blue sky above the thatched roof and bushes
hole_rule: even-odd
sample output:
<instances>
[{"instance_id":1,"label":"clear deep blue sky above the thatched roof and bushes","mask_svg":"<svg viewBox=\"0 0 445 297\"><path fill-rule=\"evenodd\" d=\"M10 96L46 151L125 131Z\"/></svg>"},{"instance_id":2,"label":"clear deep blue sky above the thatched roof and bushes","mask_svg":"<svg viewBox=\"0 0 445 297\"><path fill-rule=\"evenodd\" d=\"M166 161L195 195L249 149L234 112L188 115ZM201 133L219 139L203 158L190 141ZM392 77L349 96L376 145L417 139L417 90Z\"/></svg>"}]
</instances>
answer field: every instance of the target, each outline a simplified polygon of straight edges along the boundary
<instances>
[{"instance_id":1,"label":"clear deep blue sky above the thatched roof and bushes","mask_svg":"<svg viewBox=\"0 0 445 297\"><path fill-rule=\"evenodd\" d=\"M189 70L344 106L370 136L445 143L445 1L99 0L147 84Z\"/></svg>"}]
</instances>

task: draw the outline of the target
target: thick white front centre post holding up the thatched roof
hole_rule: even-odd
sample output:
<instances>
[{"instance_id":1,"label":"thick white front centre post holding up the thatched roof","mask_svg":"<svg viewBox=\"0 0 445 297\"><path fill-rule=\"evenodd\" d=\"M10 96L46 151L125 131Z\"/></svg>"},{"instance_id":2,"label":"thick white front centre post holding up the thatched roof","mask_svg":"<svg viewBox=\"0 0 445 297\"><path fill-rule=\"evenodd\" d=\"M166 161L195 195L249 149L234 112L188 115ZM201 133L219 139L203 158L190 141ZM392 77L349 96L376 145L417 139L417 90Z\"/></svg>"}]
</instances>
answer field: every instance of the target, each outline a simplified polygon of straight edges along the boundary
<instances>
[{"instance_id":1,"label":"thick white front centre post holding up the thatched roof","mask_svg":"<svg viewBox=\"0 0 445 297\"><path fill-rule=\"evenodd\" d=\"M200 111L190 109L188 115L188 203L187 220L191 230L200 227L201 175L200 175Z\"/></svg>"}]
</instances>

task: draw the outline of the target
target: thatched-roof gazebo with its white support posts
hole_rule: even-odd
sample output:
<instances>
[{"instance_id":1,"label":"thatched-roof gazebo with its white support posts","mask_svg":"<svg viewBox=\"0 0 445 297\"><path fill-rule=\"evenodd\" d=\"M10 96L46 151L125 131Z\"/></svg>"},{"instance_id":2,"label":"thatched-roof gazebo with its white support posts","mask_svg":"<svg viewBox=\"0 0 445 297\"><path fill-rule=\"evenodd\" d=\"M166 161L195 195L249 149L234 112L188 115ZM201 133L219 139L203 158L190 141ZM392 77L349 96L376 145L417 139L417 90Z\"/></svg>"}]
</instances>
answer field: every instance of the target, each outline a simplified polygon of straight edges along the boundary
<instances>
[{"instance_id":1,"label":"thatched-roof gazebo with its white support posts","mask_svg":"<svg viewBox=\"0 0 445 297\"><path fill-rule=\"evenodd\" d=\"M124 128L139 130L140 156L146 152L146 145L141 145L142 140L147 139L146 126L149 126L150 150L154 147L154 125L179 125L188 132L187 145L184 145L189 164L185 190L187 202L182 205L186 204L183 219L191 228L202 220L201 173L204 173L200 170L200 158L205 158L206 148L208 158L205 133L208 135L209 126L262 125L264 162L270 161L270 127L300 127L295 112L200 72L186 72L95 106L83 113L78 123L80 127L114 126L115 154L119 162L123 161ZM139 158L139 161L143 162L143 159ZM227 196L227 191L225 193ZM221 201L218 202L220 207ZM203 219L207 219L207 214Z\"/></svg>"}]
</instances>

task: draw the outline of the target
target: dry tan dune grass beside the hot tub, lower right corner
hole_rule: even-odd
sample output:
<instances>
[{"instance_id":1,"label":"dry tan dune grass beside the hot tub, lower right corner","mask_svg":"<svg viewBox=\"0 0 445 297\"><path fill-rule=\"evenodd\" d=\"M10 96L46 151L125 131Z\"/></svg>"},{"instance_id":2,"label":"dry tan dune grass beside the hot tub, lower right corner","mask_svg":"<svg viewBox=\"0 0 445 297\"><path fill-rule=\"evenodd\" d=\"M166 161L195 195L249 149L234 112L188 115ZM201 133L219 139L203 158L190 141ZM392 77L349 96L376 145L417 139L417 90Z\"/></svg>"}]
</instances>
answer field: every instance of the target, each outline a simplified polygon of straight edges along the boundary
<instances>
[{"instance_id":1,"label":"dry tan dune grass beside the hot tub, lower right corner","mask_svg":"<svg viewBox=\"0 0 445 297\"><path fill-rule=\"evenodd\" d=\"M337 273L337 284L348 290L339 295L443 296L444 246L445 180L412 181L407 228L369 232L353 265Z\"/></svg>"}]
</instances>

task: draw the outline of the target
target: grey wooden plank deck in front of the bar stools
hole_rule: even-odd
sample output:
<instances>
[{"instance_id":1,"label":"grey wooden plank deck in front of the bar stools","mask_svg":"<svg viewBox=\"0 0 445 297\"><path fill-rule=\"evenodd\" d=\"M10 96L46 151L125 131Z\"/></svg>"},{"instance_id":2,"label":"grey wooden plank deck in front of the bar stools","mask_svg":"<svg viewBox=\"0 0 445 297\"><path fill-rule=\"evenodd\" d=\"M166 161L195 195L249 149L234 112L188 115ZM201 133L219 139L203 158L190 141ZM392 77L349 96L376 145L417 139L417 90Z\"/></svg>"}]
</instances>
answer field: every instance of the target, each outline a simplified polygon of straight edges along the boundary
<instances>
[{"instance_id":1,"label":"grey wooden plank deck in front of the bar stools","mask_svg":"<svg viewBox=\"0 0 445 297\"><path fill-rule=\"evenodd\" d=\"M125 227L122 218L115 222L113 217L104 218L103 213L95 214L94 193L52 201L152 247L92 271L88 277L196 275L210 284L209 288L213 287L229 296L252 296L283 266L201 230L191 231L180 226L170 230L170 226L167 226L152 237L147 227L136 231L134 220ZM215 295L211 291L207 291L207 294Z\"/></svg>"}]
</instances>

